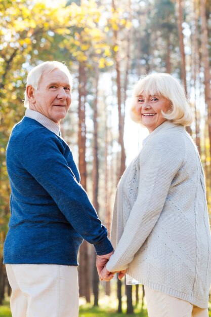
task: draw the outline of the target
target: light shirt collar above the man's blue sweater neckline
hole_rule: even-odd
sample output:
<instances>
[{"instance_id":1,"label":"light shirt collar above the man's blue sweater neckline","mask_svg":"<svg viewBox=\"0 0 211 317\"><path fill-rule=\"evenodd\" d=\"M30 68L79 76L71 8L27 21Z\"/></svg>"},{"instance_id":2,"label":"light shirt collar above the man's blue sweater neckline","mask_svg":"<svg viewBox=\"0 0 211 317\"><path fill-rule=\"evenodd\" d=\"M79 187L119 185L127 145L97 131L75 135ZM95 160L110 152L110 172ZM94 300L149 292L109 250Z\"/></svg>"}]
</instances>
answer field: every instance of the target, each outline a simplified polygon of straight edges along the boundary
<instances>
[{"instance_id":1,"label":"light shirt collar above the man's blue sweater neckline","mask_svg":"<svg viewBox=\"0 0 211 317\"><path fill-rule=\"evenodd\" d=\"M38 123L49 129L51 132L56 133L58 136L61 135L59 125L57 125L54 121L49 119L47 116L41 114L40 112L26 109L25 116L36 120Z\"/></svg>"}]
</instances>

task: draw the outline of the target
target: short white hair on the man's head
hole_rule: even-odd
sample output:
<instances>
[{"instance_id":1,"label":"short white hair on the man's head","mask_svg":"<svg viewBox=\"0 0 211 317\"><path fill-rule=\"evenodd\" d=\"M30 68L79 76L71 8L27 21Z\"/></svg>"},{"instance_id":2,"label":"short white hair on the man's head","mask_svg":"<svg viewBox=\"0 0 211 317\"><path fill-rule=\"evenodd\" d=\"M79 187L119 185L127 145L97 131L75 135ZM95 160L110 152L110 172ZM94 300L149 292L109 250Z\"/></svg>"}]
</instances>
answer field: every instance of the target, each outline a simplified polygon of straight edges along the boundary
<instances>
[{"instance_id":1,"label":"short white hair on the man's head","mask_svg":"<svg viewBox=\"0 0 211 317\"><path fill-rule=\"evenodd\" d=\"M72 76L70 74L69 69L67 68L67 66L64 63L60 63L57 61L43 62L43 63L35 66L33 69L31 69L28 73L28 76L27 76L26 87L32 86L34 89L38 89L39 83L40 83L43 75L49 74L54 69L60 69L68 76L69 82L70 82L70 87L72 88ZM26 90L24 93L24 106L26 108L29 107L28 96L26 94Z\"/></svg>"}]
</instances>

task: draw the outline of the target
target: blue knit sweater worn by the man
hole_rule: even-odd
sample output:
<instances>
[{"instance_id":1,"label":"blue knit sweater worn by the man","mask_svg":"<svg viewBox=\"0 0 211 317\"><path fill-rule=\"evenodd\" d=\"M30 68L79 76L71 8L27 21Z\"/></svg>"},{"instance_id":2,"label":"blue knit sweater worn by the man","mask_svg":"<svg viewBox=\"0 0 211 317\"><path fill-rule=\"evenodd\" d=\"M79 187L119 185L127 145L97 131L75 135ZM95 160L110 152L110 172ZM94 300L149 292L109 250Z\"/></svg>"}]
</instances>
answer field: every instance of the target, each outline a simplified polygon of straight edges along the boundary
<instances>
[{"instance_id":1,"label":"blue knit sweater worn by the man","mask_svg":"<svg viewBox=\"0 0 211 317\"><path fill-rule=\"evenodd\" d=\"M113 248L65 141L24 117L7 147L11 218L4 263L78 265L82 239L98 255Z\"/></svg>"}]
</instances>

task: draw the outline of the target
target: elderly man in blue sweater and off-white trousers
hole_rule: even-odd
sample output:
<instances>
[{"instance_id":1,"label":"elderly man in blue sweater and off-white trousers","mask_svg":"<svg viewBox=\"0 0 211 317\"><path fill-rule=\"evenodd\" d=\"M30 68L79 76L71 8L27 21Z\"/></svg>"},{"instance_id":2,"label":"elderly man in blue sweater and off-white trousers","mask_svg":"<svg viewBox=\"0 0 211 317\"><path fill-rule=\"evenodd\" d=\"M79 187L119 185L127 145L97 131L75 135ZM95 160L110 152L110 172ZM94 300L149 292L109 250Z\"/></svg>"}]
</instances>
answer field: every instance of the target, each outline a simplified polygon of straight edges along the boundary
<instances>
[{"instance_id":1,"label":"elderly man in blue sweater and off-white trousers","mask_svg":"<svg viewBox=\"0 0 211 317\"><path fill-rule=\"evenodd\" d=\"M26 114L8 143L11 218L4 263L13 317L78 316L77 253L82 239L94 245L99 272L113 253L60 134L71 88L64 64L34 67L27 77Z\"/></svg>"}]
</instances>

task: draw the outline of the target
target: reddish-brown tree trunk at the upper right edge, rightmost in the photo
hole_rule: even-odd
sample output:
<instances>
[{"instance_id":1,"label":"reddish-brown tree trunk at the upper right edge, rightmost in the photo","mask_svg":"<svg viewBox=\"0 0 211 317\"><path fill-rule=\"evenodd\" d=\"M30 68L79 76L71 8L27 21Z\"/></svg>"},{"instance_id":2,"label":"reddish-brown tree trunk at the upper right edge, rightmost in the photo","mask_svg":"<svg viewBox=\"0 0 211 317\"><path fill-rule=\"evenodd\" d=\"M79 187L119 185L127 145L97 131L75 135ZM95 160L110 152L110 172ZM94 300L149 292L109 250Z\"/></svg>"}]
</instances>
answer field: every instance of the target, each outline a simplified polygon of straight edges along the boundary
<instances>
[{"instance_id":1,"label":"reddish-brown tree trunk at the upper right edge, rightmost in the photo","mask_svg":"<svg viewBox=\"0 0 211 317\"><path fill-rule=\"evenodd\" d=\"M211 92L210 92L210 65L208 52L208 32L206 21L206 1L200 0L200 16L201 16L201 55L204 68L204 86L205 86L205 103L207 106L207 124L209 137L209 152L211 155Z\"/></svg>"}]
</instances>

